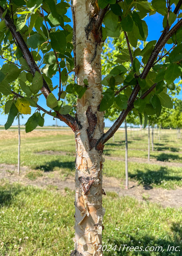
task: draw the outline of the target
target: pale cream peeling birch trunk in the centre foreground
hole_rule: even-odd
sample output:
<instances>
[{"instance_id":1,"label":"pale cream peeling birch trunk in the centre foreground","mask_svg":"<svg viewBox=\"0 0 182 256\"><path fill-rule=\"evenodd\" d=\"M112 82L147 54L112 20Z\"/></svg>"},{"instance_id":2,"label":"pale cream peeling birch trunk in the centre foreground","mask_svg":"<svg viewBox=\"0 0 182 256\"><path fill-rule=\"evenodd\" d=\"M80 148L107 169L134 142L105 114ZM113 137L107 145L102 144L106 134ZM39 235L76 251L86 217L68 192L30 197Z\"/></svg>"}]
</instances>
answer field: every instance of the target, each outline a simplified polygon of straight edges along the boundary
<instances>
[{"instance_id":1,"label":"pale cream peeling birch trunk in the centre foreground","mask_svg":"<svg viewBox=\"0 0 182 256\"><path fill-rule=\"evenodd\" d=\"M75 132L75 251L71 256L102 255L102 249L98 249L102 245L104 159L103 147L95 149L97 140L104 132L103 112L99 112L102 99L102 33L98 31L96 34L97 31L94 30L94 22L99 11L97 6L92 0L73 1L75 62L79 65L77 80L80 86L84 86L83 80L87 79L88 86L84 96L78 99L76 110L76 118L82 128Z\"/></svg>"}]
</instances>

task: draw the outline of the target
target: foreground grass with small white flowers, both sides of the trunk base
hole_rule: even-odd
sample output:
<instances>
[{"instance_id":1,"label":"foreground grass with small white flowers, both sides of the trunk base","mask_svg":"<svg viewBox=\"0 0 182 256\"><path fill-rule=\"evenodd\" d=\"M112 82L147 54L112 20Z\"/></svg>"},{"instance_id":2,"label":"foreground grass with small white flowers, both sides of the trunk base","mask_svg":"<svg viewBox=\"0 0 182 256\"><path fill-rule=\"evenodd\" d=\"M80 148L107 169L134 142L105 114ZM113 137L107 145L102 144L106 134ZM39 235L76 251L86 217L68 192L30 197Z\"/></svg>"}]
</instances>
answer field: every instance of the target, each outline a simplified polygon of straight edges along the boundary
<instances>
[{"instance_id":1,"label":"foreground grass with small white flowers, both sides of the trunk base","mask_svg":"<svg viewBox=\"0 0 182 256\"><path fill-rule=\"evenodd\" d=\"M103 206L103 249L108 250L104 255L165 256L169 245L182 249L181 209L119 198L114 192L103 197ZM0 186L0 227L1 256L68 256L74 248L74 192L65 189L61 194L5 182ZM164 251L126 252L123 247L119 250L123 244L162 246ZM114 249L109 250L109 245Z\"/></svg>"}]
</instances>

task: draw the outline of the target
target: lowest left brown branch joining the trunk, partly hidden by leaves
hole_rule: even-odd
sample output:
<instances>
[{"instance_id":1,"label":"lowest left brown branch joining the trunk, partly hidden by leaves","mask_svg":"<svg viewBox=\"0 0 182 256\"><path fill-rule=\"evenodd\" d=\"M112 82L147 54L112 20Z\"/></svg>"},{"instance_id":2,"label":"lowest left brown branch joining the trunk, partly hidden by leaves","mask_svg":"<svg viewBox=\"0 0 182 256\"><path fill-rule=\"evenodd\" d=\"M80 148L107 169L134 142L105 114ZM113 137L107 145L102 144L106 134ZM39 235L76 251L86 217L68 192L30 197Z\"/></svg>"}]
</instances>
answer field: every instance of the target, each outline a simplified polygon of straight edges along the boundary
<instances>
[{"instance_id":1,"label":"lowest left brown branch joining the trunk, partly hidden by leaves","mask_svg":"<svg viewBox=\"0 0 182 256\"><path fill-rule=\"evenodd\" d=\"M12 94L16 95L19 98L24 98L22 95L15 93L15 91L12 91ZM36 106L38 109L42 110L44 113L52 116L50 111L47 111L46 109L42 108L38 104L36 104ZM56 114L57 114L56 116L52 116L52 117L58 118L60 121L63 121L64 123L66 123L69 127L71 127L71 129L74 132L77 131L78 129L81 129L80 125L77 124L75 118L72 117L70 114L62 115L58 111L56 111Z\"/></svg>"}]
</instances>

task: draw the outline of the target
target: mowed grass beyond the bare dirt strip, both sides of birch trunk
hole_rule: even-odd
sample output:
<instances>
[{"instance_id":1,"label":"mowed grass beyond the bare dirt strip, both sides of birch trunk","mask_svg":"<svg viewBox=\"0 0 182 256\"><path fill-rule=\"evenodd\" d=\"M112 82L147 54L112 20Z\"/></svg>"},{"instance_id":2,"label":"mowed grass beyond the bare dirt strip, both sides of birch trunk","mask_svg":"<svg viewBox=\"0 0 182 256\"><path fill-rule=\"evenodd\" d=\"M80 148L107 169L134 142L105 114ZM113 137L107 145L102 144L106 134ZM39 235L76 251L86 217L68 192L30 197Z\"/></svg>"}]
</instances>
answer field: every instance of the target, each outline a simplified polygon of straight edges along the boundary
<instances>
[{"instance_id":1,"label":"mowed grass beyond the bare dirt strip, both sides of birch trunk","mask_svg":"<svg viewBox=\"0 0 182 256\"><path fill-rule=\"evenodd\" d=\"M140 132L140 131L138 131ZM161 138L161 148L171 148L173 151L165 153L165 155L178 155L174 162L180 162L182 157L181 151L174 152L174 148L181 150L181 140L172 140L174 132L169 136L168 142L166 137ZM17 132L9 132L11 138L1 137L0 140L0 159L1 163L17 164L17 139L15 138ZM54 135L55 134L55 135ZM8 135L8 133L7 133ZM116 159L106 159L104 162L103 175L107 177L116 177L124 179L125 177L125 163L118 161L118 157L124 158L124 141L121 141L122 132L118 131L115 135L115 142L112 138L106 143L104 147L104 154L107 157L117 157ZM147 157L147 134L142 131L138 139L129 139L128 152L129 157L137 154L137 157L145 154ZM165 146L162 146L165 145ZM134 149L130 150L131 146ZM142 150L141 150L142 148ZM161 154L161 151L152 152L151 154ZM143 157L144 158L144 157ZM43 172L52 172L60 170L60 176L74 175L75 172L75 140L74 134L69 131L37 131L25 135L22 132L21 138L21 165L29 166L32 169L42 170ZM167 189L174 189L182 185L182 168L171 166L150 165L148 163L129 162L128 164L129 177L137 180L139 184L151 185L152 187L162 187Z\"/></svg>"}]
</instances>

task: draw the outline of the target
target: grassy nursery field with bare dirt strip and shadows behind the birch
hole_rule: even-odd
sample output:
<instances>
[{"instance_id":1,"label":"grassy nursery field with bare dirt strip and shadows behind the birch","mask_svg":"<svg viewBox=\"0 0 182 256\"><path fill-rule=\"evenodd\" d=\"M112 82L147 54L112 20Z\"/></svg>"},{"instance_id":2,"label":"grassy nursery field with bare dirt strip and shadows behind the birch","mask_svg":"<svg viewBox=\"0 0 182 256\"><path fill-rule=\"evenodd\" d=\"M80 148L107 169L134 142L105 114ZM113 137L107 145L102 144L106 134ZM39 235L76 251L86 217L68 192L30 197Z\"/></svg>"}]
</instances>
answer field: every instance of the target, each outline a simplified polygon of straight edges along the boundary
<instances>
[{"instance_id":1,"label":"grassy nursery field with bare dirt strip and shadows behind the birch","mask_svg":"<svg viewBox=\"0 0 182 256\"><path fill-rule=\"evenodd\" d=\"M0 255L68 256L74 246L74 134L60 127L22 130L18 176L17 133L0 130ZM124 156L120 129L104 147L104 255L180 256L182 136L155 129L148 162L148 131L128 128L127 191ZM142 249L126 251L124 244Z\"/></svg>"}]
</instances>

